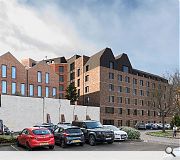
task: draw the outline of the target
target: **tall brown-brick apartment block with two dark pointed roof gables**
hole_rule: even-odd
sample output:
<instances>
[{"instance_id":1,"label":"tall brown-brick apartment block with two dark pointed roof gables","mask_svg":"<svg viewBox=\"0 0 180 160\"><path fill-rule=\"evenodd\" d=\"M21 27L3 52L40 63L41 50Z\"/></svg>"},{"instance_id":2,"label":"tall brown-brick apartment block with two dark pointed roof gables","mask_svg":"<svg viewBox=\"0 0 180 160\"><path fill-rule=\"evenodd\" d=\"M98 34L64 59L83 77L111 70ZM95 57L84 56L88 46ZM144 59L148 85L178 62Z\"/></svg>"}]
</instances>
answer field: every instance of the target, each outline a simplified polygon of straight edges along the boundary
<instances>
[{"instance_id":1,"label":"tall brown-brick apartment block with two dark pointed roof gables","mask_svg":"<svg viewBox=\"0 0 180 160\"><path fill-rule=\"evenodd\" d=\"M67 63L68 84L77 87L78 104L100 107L102 123L161 122L146 98L152 87L166 85L166 79L134 69L126 54L114 57L110 48L91 57L75 55Z\"/></svg>"}]
</instances>

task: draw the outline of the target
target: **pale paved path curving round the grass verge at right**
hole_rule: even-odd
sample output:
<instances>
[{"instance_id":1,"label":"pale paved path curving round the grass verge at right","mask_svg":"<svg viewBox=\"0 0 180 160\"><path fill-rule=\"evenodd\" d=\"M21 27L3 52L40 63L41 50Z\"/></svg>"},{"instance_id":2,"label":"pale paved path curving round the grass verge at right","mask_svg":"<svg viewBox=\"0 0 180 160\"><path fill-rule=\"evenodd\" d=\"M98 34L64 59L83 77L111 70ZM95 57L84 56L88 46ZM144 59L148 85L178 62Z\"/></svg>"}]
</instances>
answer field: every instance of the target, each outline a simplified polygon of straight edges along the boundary
<instances>
[{"instance_id":1,"label":"pale paved path curving round the grass verge at right","mask_svg":"<svg viewBox=\"0 0 180 160\"><path fill-rule=\"evenodd\" d=\"M180 146L180 139L178 138L155 137L155 136L146 135L146 132L151 132L151 131L141 131L141 139L144 140L144 142Z\"/></svg>"}]
</instances>

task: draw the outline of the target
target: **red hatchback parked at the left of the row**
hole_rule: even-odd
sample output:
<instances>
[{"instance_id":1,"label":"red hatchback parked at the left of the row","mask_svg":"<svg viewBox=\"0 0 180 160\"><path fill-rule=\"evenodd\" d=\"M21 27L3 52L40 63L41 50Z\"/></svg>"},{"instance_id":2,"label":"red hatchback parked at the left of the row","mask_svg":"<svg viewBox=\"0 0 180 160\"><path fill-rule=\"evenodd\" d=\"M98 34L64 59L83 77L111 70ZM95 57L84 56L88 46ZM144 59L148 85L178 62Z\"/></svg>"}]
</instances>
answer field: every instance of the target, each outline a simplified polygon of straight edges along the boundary
<instances>
[{"instance_id":1,"label":"red hatchback parked at the left of the row","mask_svg":"<svg viewBox=\"0 0 180 160\"><path fill-rule=\"evenodd\" d=\"M26 146L29 150L35 147L54 149L54 135L47 128L25 128L17 137L18 146Z\"/></svg>"}]
</instances>

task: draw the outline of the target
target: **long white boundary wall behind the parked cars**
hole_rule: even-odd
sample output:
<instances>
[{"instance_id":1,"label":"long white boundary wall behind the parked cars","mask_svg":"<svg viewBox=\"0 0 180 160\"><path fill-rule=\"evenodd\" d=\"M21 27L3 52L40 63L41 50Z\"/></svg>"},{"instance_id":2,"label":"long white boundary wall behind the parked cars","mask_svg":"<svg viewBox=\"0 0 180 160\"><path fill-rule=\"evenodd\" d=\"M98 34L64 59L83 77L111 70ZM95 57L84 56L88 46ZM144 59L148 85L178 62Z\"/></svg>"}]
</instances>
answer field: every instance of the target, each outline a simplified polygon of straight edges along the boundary
<instances>
[{"instance_id":1,"label":"long white boundary wall behind the parked cars","mask_svg":"<svg viewBox=\"0 0 180 160\"><path fill-rule=\"evenodd\" d=\"M54 124L59 122L61 114L66 122L72 122L73 112L78 120L85 120L86 113L91 119L100 120L99 107L70 105L70 101L64 99L1 95L0 119L13 131L43 123L43 115L46 122L47 114Z\"/></svg>"}]
</instances>

